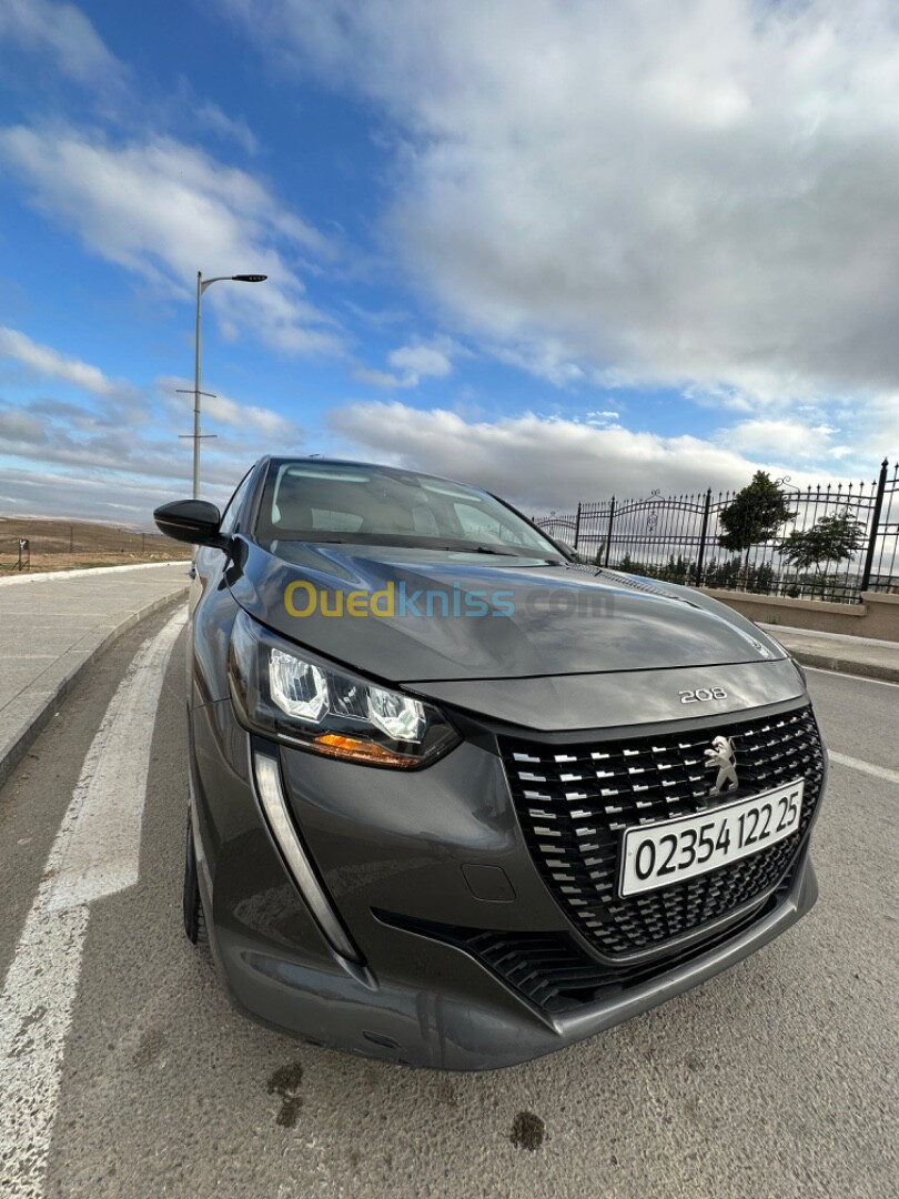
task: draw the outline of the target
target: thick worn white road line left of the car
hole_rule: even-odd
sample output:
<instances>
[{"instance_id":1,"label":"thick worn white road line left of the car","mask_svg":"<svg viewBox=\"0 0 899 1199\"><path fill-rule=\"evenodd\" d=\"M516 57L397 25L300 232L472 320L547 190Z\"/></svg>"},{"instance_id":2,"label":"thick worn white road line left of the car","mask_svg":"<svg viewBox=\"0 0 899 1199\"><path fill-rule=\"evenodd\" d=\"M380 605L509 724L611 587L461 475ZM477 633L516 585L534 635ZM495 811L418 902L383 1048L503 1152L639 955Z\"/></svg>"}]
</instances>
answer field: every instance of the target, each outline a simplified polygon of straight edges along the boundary
<instances>
[{"instance_id":1,"label":"thick worn white road line left of the car","mask_svg":"<svg viewBox=\"0 0 899 1199\"><path fill-rule=\"evenodd\" d=\"M187 620L144 641L84 759L0 994L0 1194L41 1199L89 903L138 878L156 709Z\"/></svg>"}]
</instances>

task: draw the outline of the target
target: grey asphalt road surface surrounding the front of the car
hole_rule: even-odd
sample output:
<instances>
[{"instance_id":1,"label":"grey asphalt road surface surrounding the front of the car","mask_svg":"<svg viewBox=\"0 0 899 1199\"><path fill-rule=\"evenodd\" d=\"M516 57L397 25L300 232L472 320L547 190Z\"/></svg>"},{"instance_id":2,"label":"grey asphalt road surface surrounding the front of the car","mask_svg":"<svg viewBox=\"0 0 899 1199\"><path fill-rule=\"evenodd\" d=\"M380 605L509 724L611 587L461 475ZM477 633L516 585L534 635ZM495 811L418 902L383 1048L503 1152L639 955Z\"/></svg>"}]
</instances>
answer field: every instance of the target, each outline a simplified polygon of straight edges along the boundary
<instances>
[{"instance_id":1,"label":"grey asphalt road surface surrounding the front of the car","mask_svg":"<svg viewBox=\"0 0 899 1199\"><path fill-rule=\"evenodd\" d=\"M899 1194L899 688L810 673L837 760L807 920L592 1041L447 1074L251 1024L185 940L183 633L133 667L170 615L90 668L0 791L5 1199ZM152 735L146 778L110 701ZM74 848L73 802L102 833Z\"/></svg>"}]
</instances>

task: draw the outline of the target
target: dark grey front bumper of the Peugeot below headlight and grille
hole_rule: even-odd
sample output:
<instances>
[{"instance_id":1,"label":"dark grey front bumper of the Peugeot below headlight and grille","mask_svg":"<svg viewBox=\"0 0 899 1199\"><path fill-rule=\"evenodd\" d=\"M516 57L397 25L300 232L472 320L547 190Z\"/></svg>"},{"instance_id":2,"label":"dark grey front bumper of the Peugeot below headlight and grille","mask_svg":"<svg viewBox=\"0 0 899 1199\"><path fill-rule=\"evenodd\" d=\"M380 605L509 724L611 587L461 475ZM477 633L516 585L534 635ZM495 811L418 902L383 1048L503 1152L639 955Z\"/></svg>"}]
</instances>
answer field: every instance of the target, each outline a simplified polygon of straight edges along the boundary
<instances>
[{"instance_id":1,"label":"dark grey front bumper of the Peugeot below headlight and grille","mask_svg":"<svg viewBox=\"0 0 899 1199\"><path fill-rule=\"evenodd\" d=\"M200 885L219 971L247 1014L318 1044L446 1070L511 1066L704 982L778 936L817 896L806 837L789 876L731 935L675 965L662 953L648 976L553 1012L464 946L421 930L538 929L591 952L541 878L487 743L465 741L408 775L282 749L296 829L360 950L354 963L333 952L285 868L230 701L194 709L192 735Z\"/></svg>"}]
</instances>

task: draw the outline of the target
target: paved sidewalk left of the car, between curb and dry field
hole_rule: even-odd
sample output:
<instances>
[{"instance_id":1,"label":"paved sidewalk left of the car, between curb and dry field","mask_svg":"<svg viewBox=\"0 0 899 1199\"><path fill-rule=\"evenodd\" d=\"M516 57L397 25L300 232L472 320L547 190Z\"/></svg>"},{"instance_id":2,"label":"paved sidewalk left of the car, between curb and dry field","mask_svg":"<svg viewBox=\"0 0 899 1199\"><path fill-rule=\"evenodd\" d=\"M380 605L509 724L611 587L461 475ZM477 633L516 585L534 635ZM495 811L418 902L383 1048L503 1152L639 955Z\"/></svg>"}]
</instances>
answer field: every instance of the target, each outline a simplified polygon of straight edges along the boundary
<instances>
[{"instance_id":1,"label":"paved sidewalk left of the car, between curb and dry field","mask_svg":"<svg viewBox=\"0 0 899 1199\"><path fill-rule=\"evenodd\" d=\"M191 564L0 580L0 784L79 673L139 620L186 596Z\"/></svg>"}]
</instances>

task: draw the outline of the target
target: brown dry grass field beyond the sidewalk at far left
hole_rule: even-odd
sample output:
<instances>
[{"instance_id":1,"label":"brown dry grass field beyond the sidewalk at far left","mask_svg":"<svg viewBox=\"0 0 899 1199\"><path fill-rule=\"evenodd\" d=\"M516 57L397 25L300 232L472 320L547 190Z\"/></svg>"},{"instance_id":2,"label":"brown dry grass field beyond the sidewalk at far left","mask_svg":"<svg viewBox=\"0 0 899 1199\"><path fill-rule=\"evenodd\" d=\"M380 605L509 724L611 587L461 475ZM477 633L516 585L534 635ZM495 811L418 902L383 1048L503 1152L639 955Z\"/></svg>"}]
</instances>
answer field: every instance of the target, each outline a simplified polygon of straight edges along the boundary
<instances>
[{"instance_id":1,"label":"brown dry grass field beyond the sidewalk at far left","mask_svg":"<svg viewBox=\"0 0 899 1199\"><path fill-rule=\"evenodd\" d=\"M26 568L32 572L163 562L191 556L189 546L158 532L134 532L93 520L0 517L0 576L18 573L22 537L30 544L31 561Z\"/></svg>"}]
</instances>

